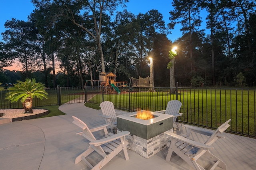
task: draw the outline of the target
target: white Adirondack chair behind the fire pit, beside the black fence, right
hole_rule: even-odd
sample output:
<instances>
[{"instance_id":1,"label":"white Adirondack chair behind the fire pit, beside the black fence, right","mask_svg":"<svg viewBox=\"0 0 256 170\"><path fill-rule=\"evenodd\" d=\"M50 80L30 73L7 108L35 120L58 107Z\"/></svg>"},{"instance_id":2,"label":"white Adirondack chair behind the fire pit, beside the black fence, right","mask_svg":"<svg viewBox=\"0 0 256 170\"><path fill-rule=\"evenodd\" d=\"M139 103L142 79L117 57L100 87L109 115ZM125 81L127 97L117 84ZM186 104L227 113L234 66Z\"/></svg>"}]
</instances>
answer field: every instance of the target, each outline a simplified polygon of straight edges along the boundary
<instances>
[{"instance_id":1,"label":"white Adirondack chair behind the fire pit, beside the black fence, right","mask_svg":"<svg viewBox=\"0 0 256 170\"><path fill-rule=\"evenodd\" d=\"M178 116L181 116L183 113L179 113L180 111L180 107L181 107L182 103L178 100L170 100L168 103L167 103L167 106L166 106L166 110L161 110L161 111L157 111L158 113L165 113L165 114L168 114L168 115L173 115L173 125L177 125L178 129L179 126L176 122L176 119Z\"/></svg>"}]
</instances>

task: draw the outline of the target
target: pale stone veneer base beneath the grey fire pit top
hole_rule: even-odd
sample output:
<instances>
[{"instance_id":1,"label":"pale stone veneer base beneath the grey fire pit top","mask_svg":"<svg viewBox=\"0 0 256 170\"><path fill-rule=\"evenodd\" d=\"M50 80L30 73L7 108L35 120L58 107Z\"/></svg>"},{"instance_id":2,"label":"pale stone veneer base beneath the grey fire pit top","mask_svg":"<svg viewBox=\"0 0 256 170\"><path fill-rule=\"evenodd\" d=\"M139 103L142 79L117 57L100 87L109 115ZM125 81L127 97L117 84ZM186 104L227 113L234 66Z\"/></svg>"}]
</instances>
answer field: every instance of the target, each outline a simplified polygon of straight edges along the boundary
<instances>
[{"instance_id":1,"label":"pale stone veneer base beneath the grey fire pit top","mask_svg":"<svg viewBox=\"0 0 256 170\"><path fill-rule=\"evenodd\" d=\"M117 131L121 132L119 129L117 129ZM150 156L153 156L166 148L167 142L170 141L170 136L166 135L168 132L173 132L173 129L170 129L148 140L132 134L127 135L127 148L140 154L140 156L143 156L144 158L149 158Z\"/></svg>"}]
</instances>

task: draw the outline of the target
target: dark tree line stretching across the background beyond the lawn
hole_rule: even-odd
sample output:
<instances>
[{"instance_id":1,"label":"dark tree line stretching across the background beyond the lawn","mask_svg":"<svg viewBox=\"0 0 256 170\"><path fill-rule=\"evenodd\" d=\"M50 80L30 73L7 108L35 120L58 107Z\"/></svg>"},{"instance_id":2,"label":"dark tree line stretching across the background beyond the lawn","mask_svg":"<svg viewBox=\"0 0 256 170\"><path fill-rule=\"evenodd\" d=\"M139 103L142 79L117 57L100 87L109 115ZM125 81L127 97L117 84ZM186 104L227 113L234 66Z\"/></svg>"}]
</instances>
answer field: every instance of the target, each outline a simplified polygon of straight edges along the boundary
<instances>
[{"instance_id":1,"label":"dark tree line stretching across the background beyond the lawn","mask_svg":"<svg viewBox=\"0 0 256 170\"><path fill-rule=\"evenodd\" d=\"M10 70L2 68L18 59L22 72L12 73L20 74L20 80L35 77L46 87L83 86L100 72L113 72L117 81L129 82L130 77L150 75L152 57L155 86L167 87L169 53L177 46L173 64L180 86L253 85L254 0L173 0L166 4L174 9L167 26L158 10L134 15L126 10L126 2L32 0L35 9L28 21L13 18L4 25L1 81L10 79ZM120 6L124 10L116 11ZM172 42L167 35L178 24L182 37ZM55 72L56 63L64 72Z\"/></svg>"}]
</instances>

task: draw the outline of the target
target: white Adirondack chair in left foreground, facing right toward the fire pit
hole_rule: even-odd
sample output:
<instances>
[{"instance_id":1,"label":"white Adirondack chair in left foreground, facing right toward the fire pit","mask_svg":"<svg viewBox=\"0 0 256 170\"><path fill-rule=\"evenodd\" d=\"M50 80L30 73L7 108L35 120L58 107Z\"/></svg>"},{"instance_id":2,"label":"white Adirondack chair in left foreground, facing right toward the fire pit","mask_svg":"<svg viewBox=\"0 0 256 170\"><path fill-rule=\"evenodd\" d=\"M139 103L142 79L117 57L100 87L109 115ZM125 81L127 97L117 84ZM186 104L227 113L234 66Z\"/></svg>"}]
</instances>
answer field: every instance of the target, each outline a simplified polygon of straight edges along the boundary
<instances>
[{"instance_id":1,"label":"white Adirondack chair in left foreground, facing right toward the fire pit","mask_svg":"<svg viewBox=\"0 0 256 170\"><path fill-rule=\"evenodd\" d=\"M88 147L88 149L76 157L75 164L77 164L81 160L84 160L84 162L88 166L90 166L91 170L99 170L122 150L124 151L125 159L129 160L126 148L128 142L125 141L125 136L129 135L130 132L124 131L118 134L108 133L106 126L108 126L109 124L102 125L94 129L89 129L87 125L77 117L73 116L73 119L74 121L72 123L83 129L82 132L76 134L81 135L88 139L88 141L90 141L90 146ZM92 132L99 130L104 130L106 135L104 136L104 138L96 140ZM103 159L100 162L98 162L95 166L92 166L92 164L88 162L86 157L89 156L94 151L97 152L100 156L102 156Z\"/></svg>"}]
</instances>

